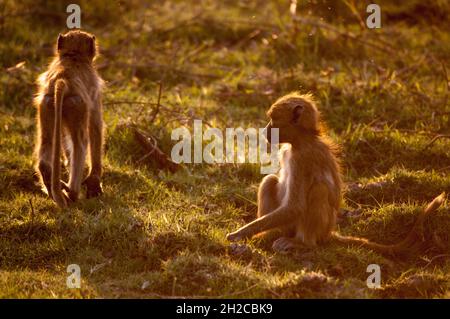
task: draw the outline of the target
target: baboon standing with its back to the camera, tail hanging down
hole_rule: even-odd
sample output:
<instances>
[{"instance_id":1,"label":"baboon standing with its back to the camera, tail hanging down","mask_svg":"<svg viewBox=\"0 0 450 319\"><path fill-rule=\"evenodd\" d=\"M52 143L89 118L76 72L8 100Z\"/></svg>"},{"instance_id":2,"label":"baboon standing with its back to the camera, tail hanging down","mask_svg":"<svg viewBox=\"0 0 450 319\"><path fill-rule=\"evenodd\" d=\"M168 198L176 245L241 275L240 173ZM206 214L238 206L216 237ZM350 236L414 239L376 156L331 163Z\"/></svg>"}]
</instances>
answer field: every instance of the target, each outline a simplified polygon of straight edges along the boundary
<instances>
[{"instance_id":1,"label":"baboon standing with its back to the camera, tail hanging down","mask_svg":"<svg viewBox=\"0 0 450 319\"><path fill-rule=\"evenodd\" d=\"M96 55L94 35L80 30L60 34L55 56L37 80L36 170L43 190L61 208L78 199L88 147L86 196L103 192L103 80L94 67ZM61 181L61 143L69 166L67 184Z\"/></svg>"}]
</instances>

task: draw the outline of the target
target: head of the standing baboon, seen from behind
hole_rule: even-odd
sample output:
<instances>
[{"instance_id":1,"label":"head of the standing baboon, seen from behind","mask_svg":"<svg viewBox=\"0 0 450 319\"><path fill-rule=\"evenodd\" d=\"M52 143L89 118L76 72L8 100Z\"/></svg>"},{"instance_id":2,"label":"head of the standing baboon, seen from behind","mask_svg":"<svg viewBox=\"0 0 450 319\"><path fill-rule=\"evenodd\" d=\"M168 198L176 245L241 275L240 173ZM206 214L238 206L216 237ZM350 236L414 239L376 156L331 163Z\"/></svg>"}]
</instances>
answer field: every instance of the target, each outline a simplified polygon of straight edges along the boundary
<instances>
[{"instance_id":1,"label":"head of the standing baboon, seen from behind","mask_svg":"<svg viewBox=\"0 0 450 319\"><path fill-rule=\"evenodd\" d=\"M95 36L80 30L59 34L57 52L61 57L94 59L97 48Z\"/></svg>"}]
</instances>

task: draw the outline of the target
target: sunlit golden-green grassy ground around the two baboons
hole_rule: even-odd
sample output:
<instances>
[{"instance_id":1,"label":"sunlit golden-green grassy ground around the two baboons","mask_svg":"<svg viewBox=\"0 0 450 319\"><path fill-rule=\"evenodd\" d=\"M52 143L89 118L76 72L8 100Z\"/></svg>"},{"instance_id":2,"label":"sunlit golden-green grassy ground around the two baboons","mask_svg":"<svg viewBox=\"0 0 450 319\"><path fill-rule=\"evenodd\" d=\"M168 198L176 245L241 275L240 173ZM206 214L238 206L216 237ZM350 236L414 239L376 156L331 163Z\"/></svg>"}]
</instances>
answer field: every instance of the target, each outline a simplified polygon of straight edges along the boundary
<instances>
[{"instance_id":1,"label":"sunlit golden-green grassy ground around the two baboons","mask_svg":"<svg viewBox=\"0 0 450 319\"><path fill-rule=\"evenodd\" d=\"M361 26L363 1L299 1L295 23L287 1L80 1L107 81L105 194L61 212L36 184L31 99L65 31L62 2L0 4L0 297L450 297L448 203L426 224L440 248L406 259L335 244L277 255L262 239L233 249L225 234L255 217L259 167L169 174L139 161L124 128L170 154L175 127L263 127L277 97L311 91L343 146L340 231L395 242L450 193L450 140L430 143L450 134L446 1L380 0L378 30ZM81 289L66 288L73 263ZM381 266L381 289L366 286L369 264Z\"/></svg>"}]
</instances>

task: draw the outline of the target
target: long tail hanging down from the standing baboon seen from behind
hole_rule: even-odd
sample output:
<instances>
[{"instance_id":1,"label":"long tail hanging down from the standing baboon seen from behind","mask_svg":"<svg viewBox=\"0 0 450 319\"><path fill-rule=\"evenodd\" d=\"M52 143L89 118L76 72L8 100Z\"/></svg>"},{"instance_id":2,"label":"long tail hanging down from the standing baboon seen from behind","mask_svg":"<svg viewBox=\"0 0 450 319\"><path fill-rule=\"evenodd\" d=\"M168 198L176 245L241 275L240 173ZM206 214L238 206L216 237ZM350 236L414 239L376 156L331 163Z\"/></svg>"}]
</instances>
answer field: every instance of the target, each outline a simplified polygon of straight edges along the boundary
<instances>
[{"instance_id":1,"label":"long tail hanging down from the standing baboon seen from behind","mask_svg":"<svg viewBox=\"0 0 450 319\"><path fill-rule=\"evenodd\" d=\"M53 154L52 154L52 196L56 204L67 207L66 196L61 190L61 118L64 94L67 85L62 79L55 83L55 126L53 130Z\"/></svg>"}]
</instances>

